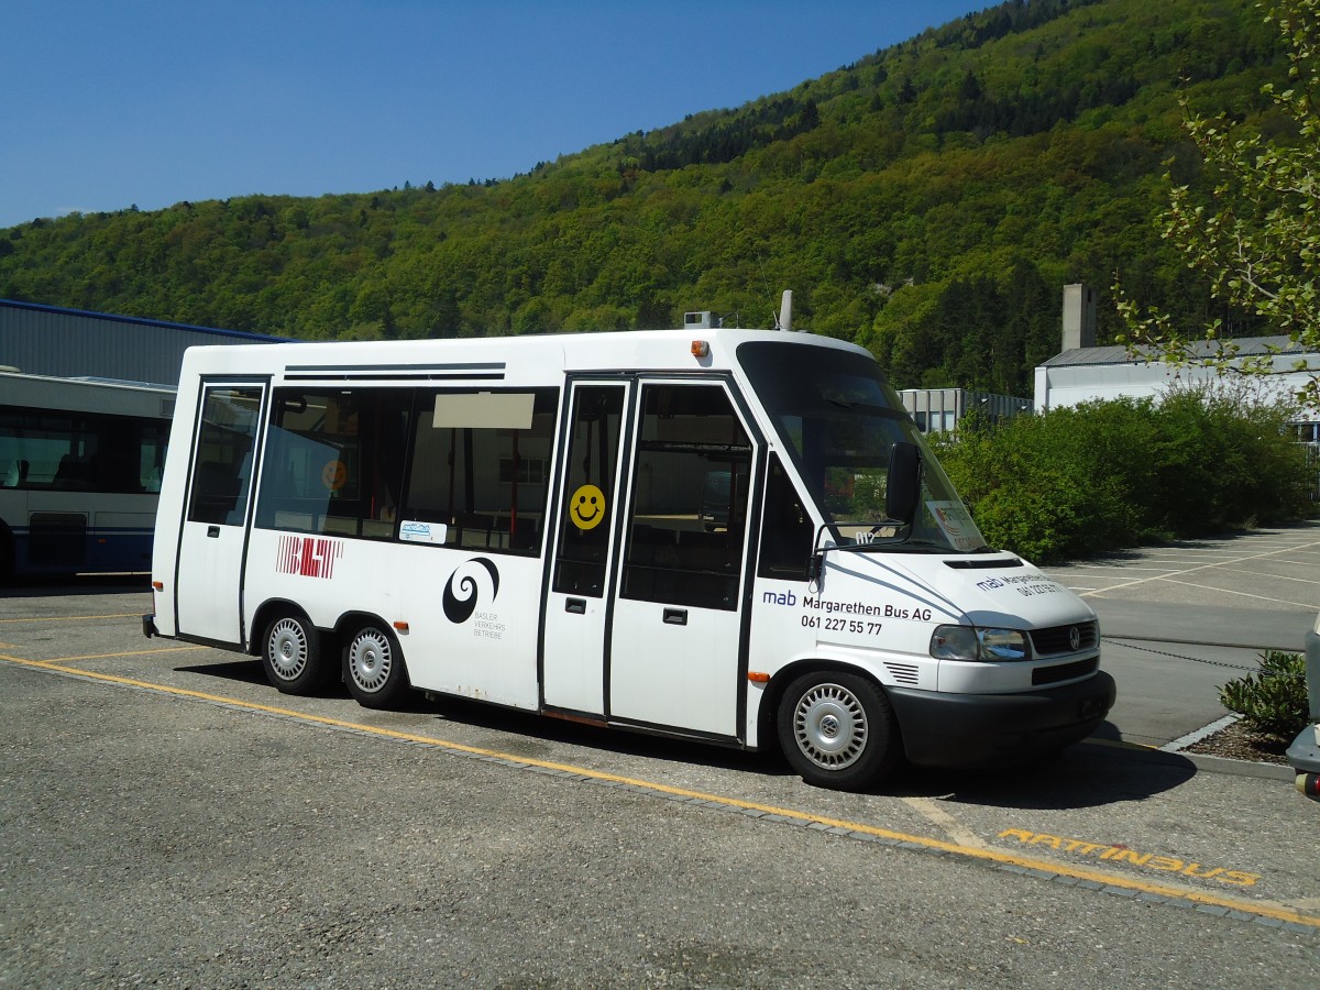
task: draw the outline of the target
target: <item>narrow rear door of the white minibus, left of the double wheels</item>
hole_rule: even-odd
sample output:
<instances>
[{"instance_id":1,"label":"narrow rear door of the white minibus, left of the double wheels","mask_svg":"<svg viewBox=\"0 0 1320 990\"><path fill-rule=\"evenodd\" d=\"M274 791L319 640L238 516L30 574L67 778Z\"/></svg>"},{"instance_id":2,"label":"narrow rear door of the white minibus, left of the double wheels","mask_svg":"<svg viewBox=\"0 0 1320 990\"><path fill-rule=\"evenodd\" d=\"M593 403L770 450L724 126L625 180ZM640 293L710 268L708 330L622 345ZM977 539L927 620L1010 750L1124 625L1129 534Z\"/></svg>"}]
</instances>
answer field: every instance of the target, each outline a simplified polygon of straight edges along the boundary
<instances>
[{"instance_id":1,"label":"narrow rear door of the white minibus, left of the double wheels","mask_svg":"<svg viewBox=\"0 0 1320 990\"><path fill-rule=\"evenodd\" d=\"M243 554L265 384L206 384L174 573L178 634L242 644Z\"/></svg>"}]
</instances>

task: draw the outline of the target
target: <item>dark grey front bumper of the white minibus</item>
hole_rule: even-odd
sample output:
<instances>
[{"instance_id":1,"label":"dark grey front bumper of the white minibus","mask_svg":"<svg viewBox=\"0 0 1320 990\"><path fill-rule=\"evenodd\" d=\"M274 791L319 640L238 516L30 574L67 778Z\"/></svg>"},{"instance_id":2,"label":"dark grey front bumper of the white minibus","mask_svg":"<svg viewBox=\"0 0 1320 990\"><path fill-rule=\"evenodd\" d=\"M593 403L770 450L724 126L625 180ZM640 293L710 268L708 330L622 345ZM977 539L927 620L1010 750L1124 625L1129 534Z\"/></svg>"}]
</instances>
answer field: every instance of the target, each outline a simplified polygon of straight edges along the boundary
<instances>
[{"instance_id":1,"label":"dark grey front bumper of the white minibus","mask_svg":"<svg viewBox=\"0 0 1320 990\"><path fill-rule=\"evenodd\" d=\"M1114 678L1022 694L940 694L887 688L908 762L985 767L1044 756L1090 735L1114 706Z\"/></svg>"}]
</instances>

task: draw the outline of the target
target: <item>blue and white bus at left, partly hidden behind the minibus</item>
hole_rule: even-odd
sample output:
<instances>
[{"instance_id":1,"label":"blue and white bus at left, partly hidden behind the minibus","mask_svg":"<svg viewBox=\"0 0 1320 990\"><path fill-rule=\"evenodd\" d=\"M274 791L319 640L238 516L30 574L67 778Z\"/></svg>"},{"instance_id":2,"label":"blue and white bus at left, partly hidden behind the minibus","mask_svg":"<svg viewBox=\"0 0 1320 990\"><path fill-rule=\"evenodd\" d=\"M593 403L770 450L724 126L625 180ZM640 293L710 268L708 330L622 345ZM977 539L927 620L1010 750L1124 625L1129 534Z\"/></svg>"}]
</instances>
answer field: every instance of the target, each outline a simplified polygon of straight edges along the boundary
<instances>
[{"instance_id":1,"label":"blue and white bus at left, partly hidden behind the minibus","mask_svg":"<svg viewBox=\"0 0 1320 990\"><path fill-rule=\"evenodd\" d=\"M0 371L0 581L150 569L174 389Z\"/></svg>"}]
</instances>

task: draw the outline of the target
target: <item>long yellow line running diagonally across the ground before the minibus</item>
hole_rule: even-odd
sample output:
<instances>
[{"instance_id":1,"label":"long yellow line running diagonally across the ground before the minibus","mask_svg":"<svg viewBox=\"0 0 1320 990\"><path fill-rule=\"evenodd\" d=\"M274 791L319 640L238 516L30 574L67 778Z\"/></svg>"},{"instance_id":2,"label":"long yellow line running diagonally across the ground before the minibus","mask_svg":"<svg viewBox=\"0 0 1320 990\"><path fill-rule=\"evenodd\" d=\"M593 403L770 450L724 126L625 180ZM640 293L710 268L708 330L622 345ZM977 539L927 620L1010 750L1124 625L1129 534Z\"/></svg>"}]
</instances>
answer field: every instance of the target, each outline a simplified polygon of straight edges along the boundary
<instances>
[{"instance_id":1,"label":"long yellow line running diagonally across the ground before the minibus","mask_svg":"<svg viewBox=\"0 0 1320 990\"><path fill-rule=\"evenodd\" d=\"M22 657L4 656L4 655L0 655L0 660L8 660L15 664L32 667L37 669L58 671L61 673L67 673L87 680L106 681L108 684L120 684L129 688L141 688L145 690L158 692L161 694L172 694L183 698L197 698L199 701L228 705L231 708L247 709L249 711L263 711L267 714L293 718L313 725L326 725L326 726L334 726L337 729L351 729L354 731L370 735L380 735L389 739L401 739L404 742L412 742L412 743L425 743L428 746L434 746L437 748L449 750L453 752L466 752L477 756L495 758L521 766L573 774L574 776L590 777L593 780L605 780L616 784L627 784L647 791L655 791L656 793L675 795L678 797L689 797L693 800L710 801L713 804L721 804L729 808L756 810L764 814L777 814L784 818L816 822L820 825L825 825L828 828L846 829L849 832L875 836L878 838L886 838L895 842L909 842L912 845L921 846L924 849L950 853L954 855L964 857L966 859L982 859L1006 866L1016 866L1026 870L1039 870L1041 873L1048 873L1052 875L1071 876L1078 880L1090 880L1093 883L1104 884L1105 887L1118 887L1122 890L1131 890L1142 894L1150 894L1152 896L1177 898L1180 900L1191 900L1197 904L1221 907L1229 911L1239 911L1247 915L1270 917L1279 921L1291 921L1294 924L1308 925L1311 928L1320 928L1320 916L1302 915L1275 902L1238 900L1234 898L1225 898L1216 894L1188 891L1160 883L1150 883L1142 879L1113 875L1097 870L1086 870L1067 863L1056 863L1045 859L1030 859L1026 857L1003 853L997 849L983 849L983 847L958 845L954 842L945 842L942 840L931 838L929 836L909 836L903 832L882 829L875 825L863 825L861 822L846 821L842 818L829 818L820 814L812 814L809 812L799 812L791 808L777 808L775 805L759 804L756 801L743 801L741 799L726 797L723 795L709 795L701 791L688 791L686 788L681 787L659 784L651 780L640 780L636 777L619 776L618 774L605 774L598 770L577 767L569 763L554 763L552 760L539 760L528 756L517 756L508 752L500 752L498 750L487 750L480 746L467 746L466 743L457 743L449 739L437 739L430 735L418 735L416 733L401 733L396 729L383 729L380 726L370 726L370 725L363 725L360 722L348 722L339 718L329 718L326 715L313 715L306 711L296 711L293 709L276 708L275 705L260 705L252 701L244 701L242 698L226 697L223 694L210 694L207 692L190 690L187 688L173 688L166 684L152 684L150 681L139 681L132 677L119 677L116 675L100 673L96 671L83 671L77 667L61 667L59 661L57 660L25 660Z\"/></svg>"}]
</instances>

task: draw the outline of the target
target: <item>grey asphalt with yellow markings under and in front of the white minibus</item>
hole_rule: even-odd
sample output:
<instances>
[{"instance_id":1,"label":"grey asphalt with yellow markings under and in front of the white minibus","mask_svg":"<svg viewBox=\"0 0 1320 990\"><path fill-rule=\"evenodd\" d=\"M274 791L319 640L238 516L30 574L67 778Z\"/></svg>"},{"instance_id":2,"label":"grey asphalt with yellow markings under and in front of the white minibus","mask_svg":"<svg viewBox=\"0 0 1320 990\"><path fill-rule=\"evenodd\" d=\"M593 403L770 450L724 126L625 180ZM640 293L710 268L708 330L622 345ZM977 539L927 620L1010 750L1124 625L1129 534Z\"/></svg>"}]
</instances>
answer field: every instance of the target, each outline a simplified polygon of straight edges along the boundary
<instances>
[{"instance_id":1,"label":"grey asphalt with yellow markings under and in front of the white minibus","mask_svg":"<svg viewBox=\"0 0 1320 990\"><path fill-rule=\"evenodd\" d=\"M3 983L1320 973L1320 807L1279 779L1100 741L841 795L764 756L469 704L280 696L253 661L143 639L147 601L0 599Z\"/></svg>"}]
</instances>

